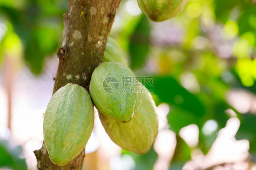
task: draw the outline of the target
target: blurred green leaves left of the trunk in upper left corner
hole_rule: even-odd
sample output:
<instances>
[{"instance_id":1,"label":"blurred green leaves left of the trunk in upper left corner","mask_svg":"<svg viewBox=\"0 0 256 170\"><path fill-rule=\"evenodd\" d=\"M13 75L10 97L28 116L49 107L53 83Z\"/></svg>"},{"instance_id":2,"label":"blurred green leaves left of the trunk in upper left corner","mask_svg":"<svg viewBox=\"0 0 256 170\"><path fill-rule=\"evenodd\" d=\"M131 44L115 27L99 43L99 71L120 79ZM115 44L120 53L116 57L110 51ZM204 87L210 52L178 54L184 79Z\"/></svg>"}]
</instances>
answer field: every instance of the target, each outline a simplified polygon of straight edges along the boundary
<instances>
[{"instance_id":1,"label":"blurred green leaves left of the trunk in upper left corner","mask_svg":"<svg viewBox=\"0 0 256 170\"><path fill-rule=\"evenodd\" d=\"M41 72L44 58L56 52L61 43L62 15L67 3L66 0L0 1L0 21L11 25L20 37L24 59L34 74Z\"/></svg>"}]
</instances>

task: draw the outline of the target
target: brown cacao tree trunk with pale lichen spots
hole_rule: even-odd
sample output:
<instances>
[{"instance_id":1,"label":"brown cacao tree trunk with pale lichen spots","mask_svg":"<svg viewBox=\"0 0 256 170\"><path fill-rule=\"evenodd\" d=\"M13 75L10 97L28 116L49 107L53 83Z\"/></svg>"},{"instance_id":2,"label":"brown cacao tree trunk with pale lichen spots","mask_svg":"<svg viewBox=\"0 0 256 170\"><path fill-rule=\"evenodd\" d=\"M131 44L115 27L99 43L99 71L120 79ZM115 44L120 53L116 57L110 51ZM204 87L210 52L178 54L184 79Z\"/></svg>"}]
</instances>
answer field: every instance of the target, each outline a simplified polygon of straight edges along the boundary
<instances>
[{"instance_id":1,"label":"brown cacao tree trunk with pale lichen spots","mask_svg":"<svg viewBox=\"0 0 256 170\"><path fill-rule=\"evenodd\" d=\"M53 94L67 83L89 85L101 63L105 45L121 0L69 0L63 15L62 45ZM81 170L85 150L67 165L52 164L46 146L34 151L39 170Z\"/></svg>"}]
</instances>

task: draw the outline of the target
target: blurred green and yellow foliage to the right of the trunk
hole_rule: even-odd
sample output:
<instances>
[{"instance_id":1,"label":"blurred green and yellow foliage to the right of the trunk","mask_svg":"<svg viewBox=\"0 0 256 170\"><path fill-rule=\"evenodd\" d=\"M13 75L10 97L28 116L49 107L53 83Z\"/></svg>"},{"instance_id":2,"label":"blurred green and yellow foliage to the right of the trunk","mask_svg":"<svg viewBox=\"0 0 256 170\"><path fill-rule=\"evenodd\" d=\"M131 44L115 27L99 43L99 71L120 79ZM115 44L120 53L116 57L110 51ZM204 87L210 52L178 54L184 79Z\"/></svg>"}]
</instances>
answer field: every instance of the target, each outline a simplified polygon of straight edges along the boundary
<instances>
[{"instance_id":1,"label":"blurred green and yellow foliage to the right of the trunk","mask_svg":"<svg viewBox=\"0 0 256 170\"><path fill-rule=\"evenodd\" d=\"M131 18L138 20L137 16L131 15ZM112 35L126 49L136 75L154 76L154 87L147 87L154 90L156 103L169 104L169 129L179 134L183 127L196 124L200 130L197 147L207 154L217 132L232 117L226 112L231 109L241 121L237 140L249 140L250 153L255 155L256 113L239 113L227 101L227 92L243 89L256 94L256 6L249 0L190 0L180 15L165 22L180 28L176 34L177 39L181 39L178 44L175 36L170 44L164 45L151 38L147 54L146 44L136 45L133 39L143 41L148 29L152 34L153 28L160 24L150 21L150 26L138 35L138 30L145 25L145 21L139 22L141 24L136 24L132 34L131 27L123 27ZM220 51L221 45L227 45L224 51ZM228 55L225 50L229 51ZM157 71L148 74L152 67ZM196 83L190 79L183 82L187 75ZM218 125L210 135L203 133L208 120L214 120ZM171 169L179 170L190 159L193 148L184 144L179 135L176 140L178 145Z\"/></svg>"}]
</instances>

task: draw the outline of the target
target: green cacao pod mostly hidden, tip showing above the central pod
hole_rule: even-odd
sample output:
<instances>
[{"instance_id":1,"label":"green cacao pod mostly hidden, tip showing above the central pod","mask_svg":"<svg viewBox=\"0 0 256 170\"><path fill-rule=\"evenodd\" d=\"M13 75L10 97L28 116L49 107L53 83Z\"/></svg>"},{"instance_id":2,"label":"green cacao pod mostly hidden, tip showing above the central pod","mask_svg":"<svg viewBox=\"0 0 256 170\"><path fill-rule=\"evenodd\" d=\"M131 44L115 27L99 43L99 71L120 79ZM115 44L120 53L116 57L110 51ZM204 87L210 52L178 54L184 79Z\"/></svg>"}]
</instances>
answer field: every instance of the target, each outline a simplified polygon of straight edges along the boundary
<instances>
[{"instance_id":1,"label":"green cacao pod mostly hidden, tip showing above the central pod","mask_svg":"<svg viewBox=\"0 0 256 170\"><path fill-rule=\"evenodd\" d=\"M102 62L117 61L128 67L128 61L123 54L120 45L111 37L108 37Z\"/></svg>"}]
</instances>

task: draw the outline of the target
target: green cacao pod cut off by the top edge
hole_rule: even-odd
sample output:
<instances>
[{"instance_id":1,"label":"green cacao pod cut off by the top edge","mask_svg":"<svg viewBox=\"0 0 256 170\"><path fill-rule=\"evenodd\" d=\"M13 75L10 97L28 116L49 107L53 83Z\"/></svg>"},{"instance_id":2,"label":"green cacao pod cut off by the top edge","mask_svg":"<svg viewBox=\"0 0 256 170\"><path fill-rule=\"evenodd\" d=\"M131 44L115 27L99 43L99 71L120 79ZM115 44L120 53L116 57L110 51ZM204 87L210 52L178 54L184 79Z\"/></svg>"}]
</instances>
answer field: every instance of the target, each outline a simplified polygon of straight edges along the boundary
<instances>
[{"instance_id":1,"label":"green cacao pod cut off by the top edge","mask_svg":"<svg viewBox=\"0 0 256 170\"><path fill-rule=\"evenodd\" d=\"M138 0L138 6L153 21L163 21L178 15L188 0Z\"/></svg>"}]
</instances>

